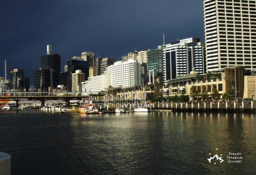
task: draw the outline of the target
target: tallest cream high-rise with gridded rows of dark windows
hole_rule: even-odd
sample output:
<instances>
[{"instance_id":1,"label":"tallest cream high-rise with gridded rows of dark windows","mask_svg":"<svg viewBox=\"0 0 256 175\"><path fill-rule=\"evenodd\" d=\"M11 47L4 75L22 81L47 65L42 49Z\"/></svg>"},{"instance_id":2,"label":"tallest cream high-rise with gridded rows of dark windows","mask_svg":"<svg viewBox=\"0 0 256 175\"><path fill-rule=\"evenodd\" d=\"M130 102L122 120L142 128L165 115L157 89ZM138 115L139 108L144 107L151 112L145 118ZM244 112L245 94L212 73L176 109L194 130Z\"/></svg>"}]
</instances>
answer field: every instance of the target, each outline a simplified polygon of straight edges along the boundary
<instances>
[{"instance_id":1,"label":"tallest cream high-rise with gridded rows of dark windows","mask_svg":"<svg viewBox=\"0 0 256 175\"><path fill-rule=\"evenodd\" d=\"M207 71L256 69L256 1L203 0Z\"/></svg>"}]
</instances>

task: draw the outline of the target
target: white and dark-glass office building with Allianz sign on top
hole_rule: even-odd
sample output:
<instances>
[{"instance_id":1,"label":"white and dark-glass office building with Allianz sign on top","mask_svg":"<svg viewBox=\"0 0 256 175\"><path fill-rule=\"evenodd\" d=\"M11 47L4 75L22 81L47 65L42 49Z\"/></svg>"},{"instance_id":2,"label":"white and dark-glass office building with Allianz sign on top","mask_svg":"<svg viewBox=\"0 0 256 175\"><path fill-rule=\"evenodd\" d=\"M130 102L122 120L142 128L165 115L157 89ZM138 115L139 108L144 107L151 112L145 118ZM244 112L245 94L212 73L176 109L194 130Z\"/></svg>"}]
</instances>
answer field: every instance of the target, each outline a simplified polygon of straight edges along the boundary
<instances>
[{"instance_id":1,"label":"white and dark-glass office building with Allianz sign on top","mask_svg":"<svg viewBox=\"0 0 256 175\"><path fill-rule=\"evenodd\" d=\"M204 44L198 38L188 38L171 42L163 48L163 80L189 74L192 70L205 72ZM196 65L195 65L196 63Z\"/></svg>"}]
</instances>

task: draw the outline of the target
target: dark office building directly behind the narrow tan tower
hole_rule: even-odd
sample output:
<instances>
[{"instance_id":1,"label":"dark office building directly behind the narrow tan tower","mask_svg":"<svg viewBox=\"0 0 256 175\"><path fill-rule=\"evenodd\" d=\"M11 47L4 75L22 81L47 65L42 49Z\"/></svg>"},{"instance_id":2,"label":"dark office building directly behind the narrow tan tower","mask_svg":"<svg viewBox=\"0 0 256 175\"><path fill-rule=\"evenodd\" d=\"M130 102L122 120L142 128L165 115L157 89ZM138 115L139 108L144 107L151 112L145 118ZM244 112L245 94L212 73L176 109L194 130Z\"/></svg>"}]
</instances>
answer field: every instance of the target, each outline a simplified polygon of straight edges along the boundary
<instances>
[{"instance_id":1,"label":"dark office building directly behind the narrow tan tower","mask_svg":"<svg viewBox=\"0 0 256 175\"><path fill-rule=\"evenodd\" d=\"M80 57L72 57L68 60L68 72L67 72L67 90L72 90L72 74L76 73L76 70L82 70L84 73L85 81L89 77L90 62L85 61Z\"/></svg>"}]
</instances>

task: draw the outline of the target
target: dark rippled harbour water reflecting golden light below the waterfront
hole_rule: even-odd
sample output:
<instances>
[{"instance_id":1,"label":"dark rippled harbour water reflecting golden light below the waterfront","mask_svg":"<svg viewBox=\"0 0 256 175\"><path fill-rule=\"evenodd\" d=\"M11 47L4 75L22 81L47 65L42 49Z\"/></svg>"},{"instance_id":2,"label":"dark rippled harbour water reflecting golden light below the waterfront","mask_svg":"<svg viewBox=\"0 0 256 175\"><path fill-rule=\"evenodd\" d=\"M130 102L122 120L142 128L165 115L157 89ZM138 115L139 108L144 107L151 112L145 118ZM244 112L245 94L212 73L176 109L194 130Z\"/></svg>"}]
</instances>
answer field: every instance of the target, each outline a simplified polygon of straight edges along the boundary
<instances>
[{"instance_id":1,"label":"dark rippled harbour water reflecting golden light below the waterfront","mask_svg":"<svg viewBox=\"0 0 256 175\"><path fill-rule=\"evenodd\" d=\"M0 152L12 175L255 174L256 117L0 111Z\"/></svg>"}]
</instances>

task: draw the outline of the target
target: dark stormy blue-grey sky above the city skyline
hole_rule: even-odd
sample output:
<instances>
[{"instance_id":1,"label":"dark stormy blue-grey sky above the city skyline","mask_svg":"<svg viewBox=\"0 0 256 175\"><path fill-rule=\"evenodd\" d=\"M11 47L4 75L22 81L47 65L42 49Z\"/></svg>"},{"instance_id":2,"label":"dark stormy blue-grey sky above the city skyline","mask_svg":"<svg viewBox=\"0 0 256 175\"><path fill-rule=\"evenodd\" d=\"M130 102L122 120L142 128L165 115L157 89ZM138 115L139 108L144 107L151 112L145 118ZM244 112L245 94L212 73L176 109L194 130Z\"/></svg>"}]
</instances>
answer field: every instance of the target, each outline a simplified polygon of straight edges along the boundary
<instances>
[{"instance_id":1,"label":"dark stormy blue-grey sky above the city skyline","mask_svg":"<svg viewBox=\"0 0 256 175\"><path fill-rule=\"evenodd\" d=\"M33 85L46 45L67 60L82 52L99 57L155 49L176 39L204 41L202 0L9 0L0 1L0 77L24 69Z\"/></svg>"}]
</instances>

